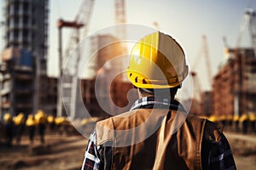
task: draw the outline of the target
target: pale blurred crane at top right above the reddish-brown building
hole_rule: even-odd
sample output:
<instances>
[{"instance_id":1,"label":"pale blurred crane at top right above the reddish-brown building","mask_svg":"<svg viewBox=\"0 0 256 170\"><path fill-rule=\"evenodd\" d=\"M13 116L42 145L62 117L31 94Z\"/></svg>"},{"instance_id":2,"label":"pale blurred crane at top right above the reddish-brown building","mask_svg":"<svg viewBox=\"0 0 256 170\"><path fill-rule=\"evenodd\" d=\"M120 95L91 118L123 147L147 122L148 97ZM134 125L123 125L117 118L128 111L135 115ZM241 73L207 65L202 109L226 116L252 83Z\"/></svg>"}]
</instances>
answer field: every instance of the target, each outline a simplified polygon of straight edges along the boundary
<instances>
[{"instance_id":1,"label":"pale blurred crane at top right above the reddish-brown building","mask_svg":"<svg viewBox=\"0 0 256 170\"><path fill-rule=\"evenodd\" d=\"M245 13L243 14L243 20L236 41L236 48L240 48L241 46L241 38L246 27L248 28L251 44L254 50L254 55L256 56L256 13L253 8L247 8Z\"/></svg>"}]
</instances>

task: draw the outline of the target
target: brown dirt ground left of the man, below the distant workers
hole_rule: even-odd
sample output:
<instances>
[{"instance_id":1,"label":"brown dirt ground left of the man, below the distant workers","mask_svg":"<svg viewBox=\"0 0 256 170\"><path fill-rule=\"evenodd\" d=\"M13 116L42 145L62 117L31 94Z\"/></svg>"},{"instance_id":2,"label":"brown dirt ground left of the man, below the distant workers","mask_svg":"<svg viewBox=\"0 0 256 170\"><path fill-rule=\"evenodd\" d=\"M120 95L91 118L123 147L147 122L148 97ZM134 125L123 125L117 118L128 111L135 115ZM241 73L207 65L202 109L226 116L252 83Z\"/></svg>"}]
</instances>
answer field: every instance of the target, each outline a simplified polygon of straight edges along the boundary
<instances>
[{"instance_id":1,"label":"brown dirt ground left of the man, below the distant workers","mask_svg":"<svg viewBox=\"0 0 256 170\"><path fill-rule=\"evenodd\" d=\"M87 139L83 136L47 135L45 144L30 145L23 138L20 145L0 147L0 169L48 170L80 169Z\"/></svg>"}]
</instances>

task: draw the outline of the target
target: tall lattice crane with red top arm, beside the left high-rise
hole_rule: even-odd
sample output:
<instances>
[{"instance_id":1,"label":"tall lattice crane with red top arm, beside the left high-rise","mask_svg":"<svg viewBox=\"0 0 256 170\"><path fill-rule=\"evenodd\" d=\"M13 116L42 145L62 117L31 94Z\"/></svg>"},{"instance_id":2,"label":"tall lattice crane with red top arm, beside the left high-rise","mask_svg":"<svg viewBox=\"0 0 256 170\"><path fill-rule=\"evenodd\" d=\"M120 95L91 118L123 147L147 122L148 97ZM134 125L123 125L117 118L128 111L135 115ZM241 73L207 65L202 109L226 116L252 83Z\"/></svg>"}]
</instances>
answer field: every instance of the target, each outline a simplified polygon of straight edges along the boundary
<instances>
[{"instance_id":1,"label":"tall lattice crane with red top arm, beside the left high-rise","mask_svg":"<svg viewBox=\"0 0 256 170\"><path fill-rule=\"evenodd\" d=\"M92 8L94 5L95 0L84 0L79 8L79 13L76 14L75 19L73 21L65 21L65 20L59 20L58 21L58 29L59 29L59 67L60 67L60 78L59 78L59 84L58 84L58 105L57 105L57 116L62 116L62 99L61 99L61 78L62 78L62 65L63 61L65 62L67 60L68 55L71 53L71 51L75 48L75 46L79 43L80 34L79 29L84 29L84 35L83 37L86 37L88 33L88 28L90 26L90 16L92 13ZM71 31L71 35L69 39L67 40L67 49L66 54L62 56L62 35L61 30L63 27L70 27L73 28ZM76 108L76 97L77 97L77 82L78 82L78 64L79 64L79 48L78 54L74 56L75 59L73 59L71 62L73 62L73 65L68 67L68 74L72 77L71 84L64 84L63 88L65 92L70 92L71 94L65 95L70 96L71 99L64 99L69 100L70 105L66 109L70 110L70 116L75 116L75 108Z\"/></svg>"}]
</instances>

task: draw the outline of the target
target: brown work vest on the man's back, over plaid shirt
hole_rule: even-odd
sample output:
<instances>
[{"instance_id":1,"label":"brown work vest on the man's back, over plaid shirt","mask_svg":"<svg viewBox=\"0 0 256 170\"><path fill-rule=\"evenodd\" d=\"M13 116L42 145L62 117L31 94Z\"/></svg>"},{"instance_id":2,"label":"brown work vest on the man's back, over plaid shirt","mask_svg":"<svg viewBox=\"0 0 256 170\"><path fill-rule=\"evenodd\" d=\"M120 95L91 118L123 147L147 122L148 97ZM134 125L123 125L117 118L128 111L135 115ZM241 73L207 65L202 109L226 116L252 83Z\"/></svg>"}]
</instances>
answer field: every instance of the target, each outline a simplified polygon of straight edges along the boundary
<instances>
[{"instance_id":1,"label":"brown work vest on the man's back, over plaid shirt","mask_svg":"<svg viewBox=\"0 0 256 170\"><path fill-rule=\"evenodd\" d=\"M137 109L96 124L104 169L201 169L201 141L220 128L182 111Z\"/></svg>"}]
</instances>

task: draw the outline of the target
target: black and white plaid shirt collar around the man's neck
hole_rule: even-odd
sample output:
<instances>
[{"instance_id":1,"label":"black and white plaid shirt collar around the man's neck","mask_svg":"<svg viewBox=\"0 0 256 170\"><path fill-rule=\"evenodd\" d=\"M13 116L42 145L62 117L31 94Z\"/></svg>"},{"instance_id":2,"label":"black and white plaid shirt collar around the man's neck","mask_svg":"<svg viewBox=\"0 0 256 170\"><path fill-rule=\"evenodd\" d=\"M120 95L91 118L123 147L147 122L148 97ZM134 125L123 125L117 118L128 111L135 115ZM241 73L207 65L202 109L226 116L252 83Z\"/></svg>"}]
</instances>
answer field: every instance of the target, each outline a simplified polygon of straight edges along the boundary
<instances>
[{"instance_id":1,"label":"black and white plaid shirt collar around the man's neck","mask_svg":"<svg viewBox=\"0 0 256 170\"><path fill-rule=\"evenodd\" d=\"M130 111L136 110L136 109L153 109L153 108L185 111L185 109L183 108L183 105L181 105L177 100L171 100L171 99L165 99L165 98L154 98L152 96L137 99L137 101L135 101L135 103L131 106Z\"/></svg>"}]
</instances>

